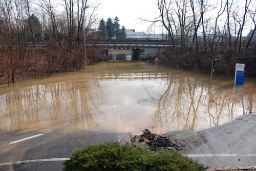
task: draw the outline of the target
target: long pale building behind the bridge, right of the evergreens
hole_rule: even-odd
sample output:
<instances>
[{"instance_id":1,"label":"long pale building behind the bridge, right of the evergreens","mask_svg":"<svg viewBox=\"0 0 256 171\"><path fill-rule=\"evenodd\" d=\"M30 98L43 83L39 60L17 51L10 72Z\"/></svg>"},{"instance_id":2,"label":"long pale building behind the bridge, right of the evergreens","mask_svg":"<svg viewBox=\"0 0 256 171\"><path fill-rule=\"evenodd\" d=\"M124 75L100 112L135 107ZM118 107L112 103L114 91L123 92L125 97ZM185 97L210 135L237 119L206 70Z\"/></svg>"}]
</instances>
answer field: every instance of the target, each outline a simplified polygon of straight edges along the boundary
<instances>
[{"instance_id":1,"label":"long pale building behind the bridge, right of the evergreens","mask_svg":"<svg viewBox=\"0 0 256 171\"><path fill-rule=\"evenodd\" d=\"M136 32L133 29L125 29L129 39L167 39L166 34L146 34L145 32Z\"/></svg>"}]
</instances>

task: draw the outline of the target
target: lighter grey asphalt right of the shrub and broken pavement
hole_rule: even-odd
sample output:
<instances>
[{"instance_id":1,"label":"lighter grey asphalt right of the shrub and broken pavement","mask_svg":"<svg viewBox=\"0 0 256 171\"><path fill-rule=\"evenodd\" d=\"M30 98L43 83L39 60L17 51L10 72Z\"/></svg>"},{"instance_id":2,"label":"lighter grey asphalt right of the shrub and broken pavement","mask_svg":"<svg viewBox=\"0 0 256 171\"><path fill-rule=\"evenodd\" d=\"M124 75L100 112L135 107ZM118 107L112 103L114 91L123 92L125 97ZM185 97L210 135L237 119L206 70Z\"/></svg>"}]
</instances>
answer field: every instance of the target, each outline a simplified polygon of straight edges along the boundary
<instances>
[{"instance_id":1,"label":"lighter grey asphalt right of the shrub and broken pavement","mask_svg":"<svg viewBox=\"0 0 256 171\"><path fill-rule=\"evenodd\" d=\"M185 145L182 154L211 168L256 166L256 113L198 132L177 131L165 135Z\"/></svg>"}]
</instances>

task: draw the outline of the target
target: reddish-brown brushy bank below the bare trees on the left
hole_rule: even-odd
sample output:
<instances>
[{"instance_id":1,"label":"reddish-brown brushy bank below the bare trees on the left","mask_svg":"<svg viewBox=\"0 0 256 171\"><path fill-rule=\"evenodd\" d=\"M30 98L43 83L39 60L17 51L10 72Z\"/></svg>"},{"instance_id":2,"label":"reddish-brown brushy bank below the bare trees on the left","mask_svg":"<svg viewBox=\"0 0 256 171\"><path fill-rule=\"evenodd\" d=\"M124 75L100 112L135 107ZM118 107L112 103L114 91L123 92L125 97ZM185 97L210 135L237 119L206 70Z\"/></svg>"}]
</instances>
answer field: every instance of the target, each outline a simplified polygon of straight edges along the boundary
<instances>
[{"instance_id":1,"label":"reddish-brown brushy bank below the bare trees on the left","mask_svg":"<svg viewBox=\"0 0 256 171\"><path fill-rule=\"evenodd\" d=\"M0 84L18 82L28 78L50 77L57 72L74 71L73 59L78 61L77 69L84 69L84 48L69 50L66 46L12 47L0 50ZM97 48L88 48L87 64L99 61Z\"/></svg>"}]
</instances>

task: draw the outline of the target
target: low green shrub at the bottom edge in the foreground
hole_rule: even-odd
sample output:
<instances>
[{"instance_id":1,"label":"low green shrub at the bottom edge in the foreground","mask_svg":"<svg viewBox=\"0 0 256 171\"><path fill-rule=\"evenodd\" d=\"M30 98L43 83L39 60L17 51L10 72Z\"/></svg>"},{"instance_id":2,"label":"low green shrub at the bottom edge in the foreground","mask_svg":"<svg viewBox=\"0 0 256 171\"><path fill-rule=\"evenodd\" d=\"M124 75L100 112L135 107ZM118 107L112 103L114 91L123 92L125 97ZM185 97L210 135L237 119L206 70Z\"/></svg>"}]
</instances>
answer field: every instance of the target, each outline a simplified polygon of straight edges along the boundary
<instances>
[{"instance_id":1,"label":"low green shrub at the bottom edge in the foreground","mask_svg":"<svg viewBox=\"0 0 256 171\"><path fill-rule=\"evenodd\" d=\"M70 160L63 162L65 171L107 171L107 170L205 170L202 164L177 151L144 151L142 148L133 148L131 145L120 145L118 142L108 142L98 145L89 145L84 149L76 150Z\"/></svg>"}]
</instances>

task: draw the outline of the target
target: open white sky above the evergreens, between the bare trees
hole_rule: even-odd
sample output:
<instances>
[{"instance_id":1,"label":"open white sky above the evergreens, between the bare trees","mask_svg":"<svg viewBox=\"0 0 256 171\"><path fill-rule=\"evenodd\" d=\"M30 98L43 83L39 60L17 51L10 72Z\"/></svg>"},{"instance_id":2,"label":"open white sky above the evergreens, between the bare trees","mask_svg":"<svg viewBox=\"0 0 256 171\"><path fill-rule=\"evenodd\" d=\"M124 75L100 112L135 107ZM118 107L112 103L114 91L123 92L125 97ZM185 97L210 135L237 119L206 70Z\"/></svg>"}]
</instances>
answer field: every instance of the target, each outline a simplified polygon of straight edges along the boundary
<instances>
[{"instance_id":1,"label":"open white sky above the evergreens, between the bare trees","mask_svg":"<svg viewBox=\"0 0 256 171\"><path fill-rule=\"evenodd\" d=\"M121 27L146 32L150 24L142 23L139 18L154 19L158 16L156 2L156 0L101 0L97 14L105 21L109 17L114 19L117 16ZM156 27L155 32L160 30Z\"/></svg>"}]
</instances>

